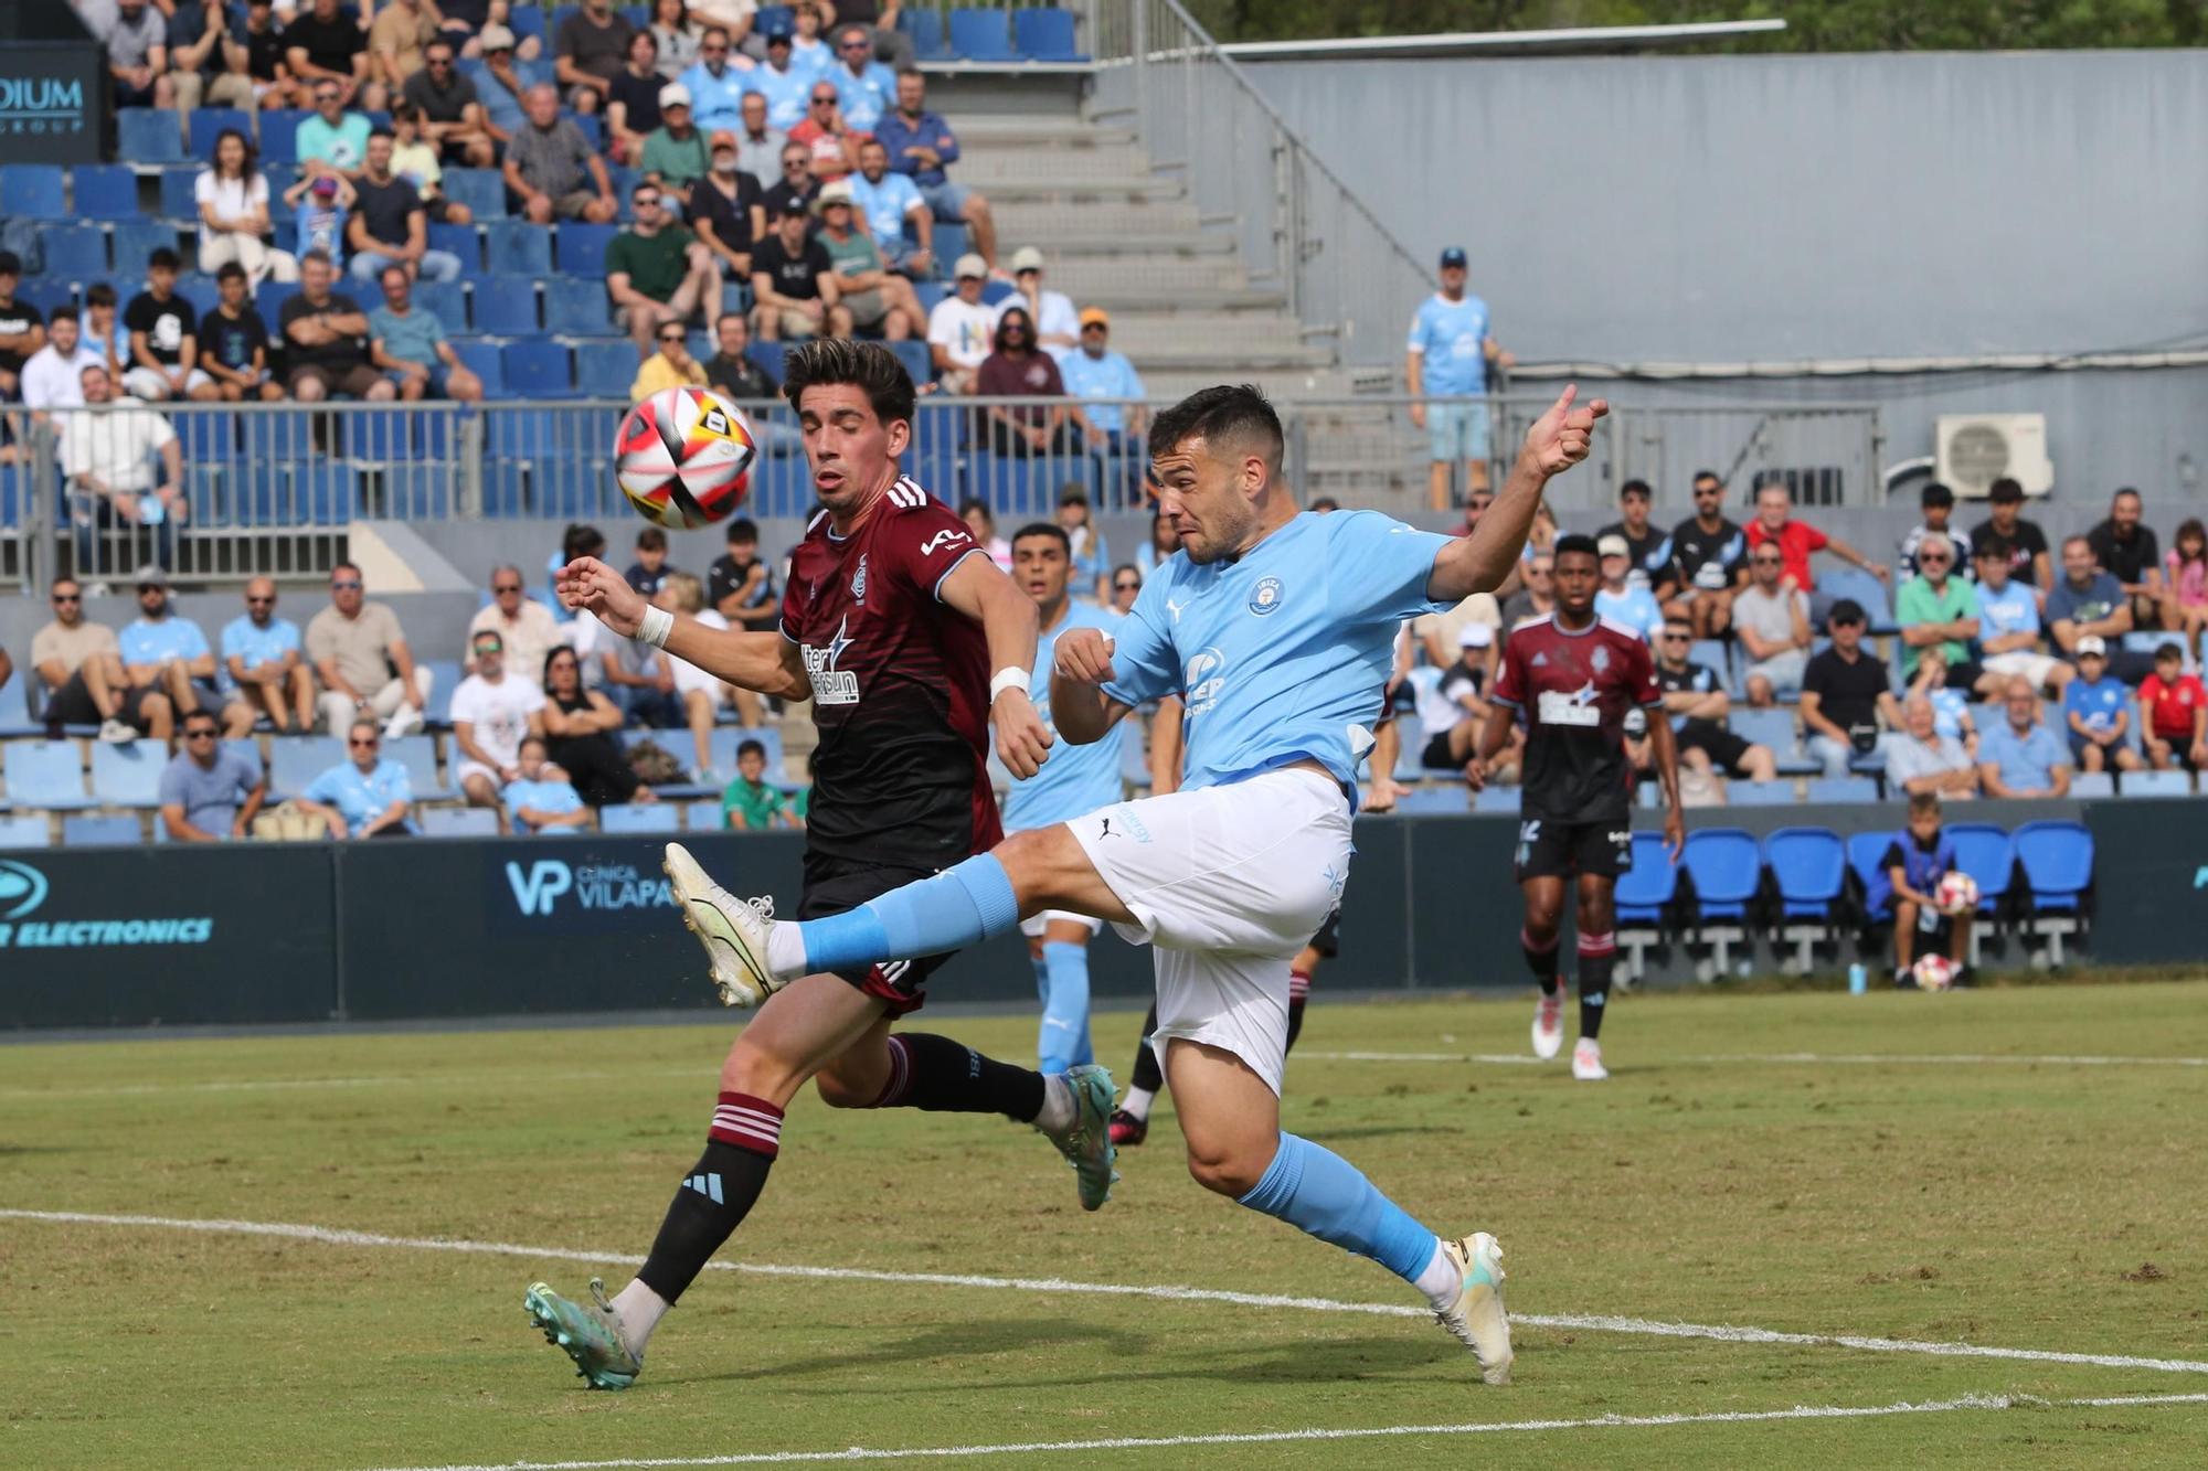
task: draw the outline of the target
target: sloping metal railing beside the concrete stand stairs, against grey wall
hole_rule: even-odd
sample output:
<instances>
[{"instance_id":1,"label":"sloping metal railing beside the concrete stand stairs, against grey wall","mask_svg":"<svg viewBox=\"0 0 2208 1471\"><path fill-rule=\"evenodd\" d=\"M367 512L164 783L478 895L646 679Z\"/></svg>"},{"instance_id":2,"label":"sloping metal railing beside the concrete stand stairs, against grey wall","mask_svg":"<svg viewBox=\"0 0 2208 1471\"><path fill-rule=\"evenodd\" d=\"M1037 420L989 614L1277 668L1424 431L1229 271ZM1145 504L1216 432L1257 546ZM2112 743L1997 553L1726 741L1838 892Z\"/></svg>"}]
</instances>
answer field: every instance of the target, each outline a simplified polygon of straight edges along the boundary
<instances>
[{"instance_id":1,"label":"sloping metal railing beside the concrete stand stairs, against grey wall","mask_svg":"<svg viewBox=\"0 0 2208 1471\"><path fill-rule=\"evenodd\" d=\"M1206 225L1234 232L1305 336L1340 362L1395 362L1433 276L1179 0L1095 7L1089 49L1095 113L1133 117L1153 168L1181 177Z\"/></svg>"}]
</instances>

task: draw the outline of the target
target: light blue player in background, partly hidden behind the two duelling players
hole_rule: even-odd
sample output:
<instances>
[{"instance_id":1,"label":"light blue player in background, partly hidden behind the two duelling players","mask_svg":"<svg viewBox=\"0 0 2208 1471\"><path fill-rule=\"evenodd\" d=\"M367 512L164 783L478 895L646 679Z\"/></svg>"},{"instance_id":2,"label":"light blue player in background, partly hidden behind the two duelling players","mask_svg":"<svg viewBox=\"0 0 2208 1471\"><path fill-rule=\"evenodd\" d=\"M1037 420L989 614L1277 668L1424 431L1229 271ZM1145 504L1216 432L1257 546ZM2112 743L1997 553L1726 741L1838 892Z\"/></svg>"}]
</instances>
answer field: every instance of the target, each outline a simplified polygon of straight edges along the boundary
<instances>
[{"instance_id":1,"label":"light blue player in background, partly hidden behind the two duelling players","mask_svg":"<svg viewBox=\"0 0 2208 1471\"><path fill-rule=\"evenodd\" d=\"M1036 599L1036 669L1027 694L1042 724L1051 724L1051 660L1058 636L1075 627L1111 634L1119 614L1066 596L1073 576L1073 539L1055 521L1022 526L1011 539L1011 581ZM1073 822L1119 800L1119 740L1086 747L1060 744L1042 771L1016 780L1005 797L1005 833ZM1036 994L1042 1025L1036 1034L1040 1073L1062 1073L1095 1062L1089 1045L1089 941L1102 919L1073 910L1044 910L1020 921L1027 954L1036 963Z\"/></svg>"}]
</instances>

